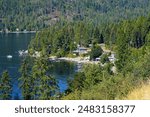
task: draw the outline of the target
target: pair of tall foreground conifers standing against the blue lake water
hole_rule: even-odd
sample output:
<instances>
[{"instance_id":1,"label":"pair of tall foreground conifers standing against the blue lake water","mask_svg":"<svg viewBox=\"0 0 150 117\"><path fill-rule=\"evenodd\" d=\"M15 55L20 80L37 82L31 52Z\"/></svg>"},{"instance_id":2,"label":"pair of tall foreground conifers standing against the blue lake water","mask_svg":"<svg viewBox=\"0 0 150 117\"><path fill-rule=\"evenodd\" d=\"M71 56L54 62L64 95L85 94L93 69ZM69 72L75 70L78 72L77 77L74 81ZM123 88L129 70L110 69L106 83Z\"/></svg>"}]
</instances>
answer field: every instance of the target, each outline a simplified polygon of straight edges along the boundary
<instances>
[{"instance_id":1,"label":"pair of tall foreground conifers standing against the blue lake water","mask_svg":"<svg viewBox=\"0 0 150 117\"><path fill-rule=\"evenodd\" d=\"M49 100L58 93L57 81L50 75L50 64L46 56L27 57L20 68L20 87L25 100Z\"/></svg>"}]
</instances>

